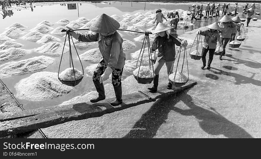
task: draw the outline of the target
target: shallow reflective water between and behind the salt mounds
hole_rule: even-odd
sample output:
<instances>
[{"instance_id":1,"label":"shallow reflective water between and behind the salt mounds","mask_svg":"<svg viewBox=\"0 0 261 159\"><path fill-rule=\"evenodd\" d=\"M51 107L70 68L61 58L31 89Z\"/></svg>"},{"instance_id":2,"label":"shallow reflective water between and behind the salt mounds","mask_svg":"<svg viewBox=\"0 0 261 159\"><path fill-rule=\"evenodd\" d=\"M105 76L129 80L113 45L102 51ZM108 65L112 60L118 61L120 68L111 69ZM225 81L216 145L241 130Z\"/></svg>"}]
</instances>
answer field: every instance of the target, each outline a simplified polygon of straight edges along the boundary
<instances>
[{"instance_id":1,"label":"shallow reflective water between and behind the salt mounds","mask_svg":"<svg viewBox=\"0 0 261 159\"><path fill-rule=\"evenodd\" d=\"M31 9L13 10L13 15L11 17L7 16L4 19L0 20L0 23L1 23L0 33L4 32L5 28L9 27L12 23L15 23L15 22L21 23L24 26L27 26L28 28L24 31L26 33L28 33L31 28L34 28L36 26L36 24L40 23L43 20L48 20L48 21L52 22L54 24L54 26L51 26L51 27L57 28L60 25L55 24L55 22L57 22L58 20L63 19L63 18L66 18L66 19L72 21L72 20L77 20L79 17L86 17L91 20L91 19L95 18L97 15L101 15L102 13L106 13L108 15L116 14L116 15L121 16L125 13L129 13L129 14L133 15L137 12L142 12L142 13L146 13L148 11L155 12L155 10L157 10L159 8L162 9L163 11L164 10L170 11L170 10L176 10L176 9L187 10L187 8L189 6L191 6L191 4L192 3L157 3L157 2L146 2L146 4L145 4L145 2L132 2L132 3L131 2L111 2L111 4L109 4L109 3L104 3L104 2L102 2L102 3L87 2L87 3L81 3L81 5L80 5L80 3L78 4L78 6L79 6L79 16L78 16L78 10L77 9L68 10L67 5L61 5L61 4L57 4L57 3L56 4L55 3L54 4L42 3L42 6L41 6L41 4L36 4L36 7L33 7L33 11ZM241 12L241 8L240 8L239 12ZM260 19L260 18L258 17L258 19ZM118 21L120 22L121 20L122 20L122 18L120 18ZM177 31L177 34L181 35L187 31L191 31L193 29L207 26L211 23L214 23L217 20L219 20L219 18L201 19L201 20L198 20L197 22L195 22L195 20L193 20L192 22L190 21L191 23L194 24L194 26L187 30L179 29ZM150 27L152 27L152 26L150 26ZM150 27L148 27L148 28L150 28ZM51 31L49 31L47 34L50 34L50 32ZM137 36L130 36L123 31L119 31L119 32L124 35L123 36L124 39L128 39L132 42L135 42L133 40L133 38L135 38ZM83 31L82 31L82 33L83 33ZM50 34L50 35L55 36L53 34ZM141 35L141 34L139 34L139 35ZM55 36L55 37L60 38L61 42L64 41L64 37L61 37L61 36ZM29 49L29 50L42 46L42 44L37 44L36 42L22 40L20 38L16 39L16 42L24 45L21 48ZM125 51L127 60L131 58L130 53L134 53L135 51L140 49L141 43L135 42L135 44L137 46L136 48L131 49L129 51ZM82 51L78 50L78 53L82 54L85 51L93 49L93 48L98 48L97 44L94 44L93 46L89 47L86 50L82 50ZM23 56L22 58L15 59L12 61L20 61L23 59L28 59L28 58L31 58L34 56L40 56L40 55L43 55L43 54L33 52L31 54ZM62 64L61 64L62 70L66 69L69 66L68 55L69 54L65 55L65 58L62 60ZM47 56L47 55L45 55L45 56ZM52 64L52 66L49 66L46 69L43 69L41 71L58 72L58 66L59 66L61 56L53 57L53 58L55 58L55 62ZM9 61L7 61L7 62L9 62ZM6 62L4 62L4 63L6 63ZM83 63L84 69L87 66L89 66L90 64L93 64L93 62L89 62L89 61L82 61L82 63ZM0 64L3 64L3 63L0 63ZM75 65L76 65L75 67L80 70L79 63L75 62ZM5 84L7 84L9 89L14 94L16 94L14 85L17 82L19 82L21 79L29 77L31 74L33 74L33 73L12 76L12 77L8 77L8 78L4 78L2 80L5 82ZM85 72L85 74L87 74L87 72ZM91 76L91 74L88 74L88 75ZM131 75L130 72L125 71L123 73L122 78L125 79L126 77L128 77L130 75ZM203 75L202 73L198 73L198 72L192 72L192 75L195 77L198 77L199 79L205 78L204 76L202 76ZM206 77L214 78L211 75L206 75ZM105 83L111 83L111 82L109 80L107 80ZM207 84L205 88L208 89L209 84ZM85 93L85 92L88 92L91 90L95 90L95 88L92 84L92 79L90 77L85 76L83 78L82 82L74 88L74 91L67 94L66 96L58 97L58 98L54 98L54 99L43 100L43 101L28 101L28 100L23 100L23 99L19 99L19 101L20 101L20 103L22 103L24 105L25 109L35 109L35 108L39 108L39 107L47 107L47 106L61 104L63 101L67 101L68 99L71 99L75 96L79 96L82 93Z\"/></svg>"}]
</instances>

